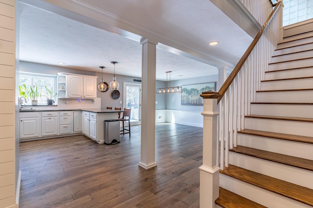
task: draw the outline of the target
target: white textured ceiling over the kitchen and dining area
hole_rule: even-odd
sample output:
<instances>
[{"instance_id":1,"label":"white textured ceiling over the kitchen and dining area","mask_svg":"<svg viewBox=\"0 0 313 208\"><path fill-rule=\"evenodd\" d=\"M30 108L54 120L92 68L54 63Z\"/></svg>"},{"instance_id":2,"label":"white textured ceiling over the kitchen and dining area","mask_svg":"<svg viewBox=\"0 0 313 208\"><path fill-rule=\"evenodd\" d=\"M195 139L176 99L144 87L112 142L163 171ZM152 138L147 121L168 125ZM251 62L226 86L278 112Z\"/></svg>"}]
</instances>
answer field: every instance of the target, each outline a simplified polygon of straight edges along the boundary
<instances>
[{"instance_id":1,"label":"white textured ceiling over the kitchen and dining area","mask_svg":"<svg viewBox=\"0 0 313 208\"><path fill-rule=\"evenodd\" d=\"M90 26L83 16L67 18L21 0L20 60L141 77L140 39L153 34L160 42L156 50L156 79L185 79L217 74L217 66L231 68L243 55L251 38L209 0L80 0L84 5L124 21L130 38ZM70 0L69 0L70 1ZM27 3L27 4L26 4ZM119 23L118 21L116 21ZM117 23L114 22L114 28ZM126 24L125 23L125 24ZM110 25L110 22L108 23ZM121 26L126 30L125 26ZM139 29L138 29L139 28ZM136 33L136 34L134 34ZM148 36L148 35L147 35ZM208 42L218 40L217 46ZM172 47L171 47L172 46ZM173 47L179 46L182 50ZM183 56L181 56L183 55ZM58 65L60 66L60 65Z\"/></svg>"}]
</instances>

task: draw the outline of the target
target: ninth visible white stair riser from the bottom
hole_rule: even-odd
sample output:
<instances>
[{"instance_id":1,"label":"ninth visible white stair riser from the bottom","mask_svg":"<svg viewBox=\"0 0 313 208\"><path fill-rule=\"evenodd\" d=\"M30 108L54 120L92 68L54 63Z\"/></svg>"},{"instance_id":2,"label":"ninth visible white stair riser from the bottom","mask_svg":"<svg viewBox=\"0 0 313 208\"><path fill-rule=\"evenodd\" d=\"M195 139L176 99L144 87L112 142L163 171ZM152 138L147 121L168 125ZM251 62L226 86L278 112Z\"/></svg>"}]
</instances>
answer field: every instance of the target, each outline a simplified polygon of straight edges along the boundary
<instances>
[{"instance_id":1,"label":"ninth visible white stair riser from the bottom","mask_svg":"<svg viewBox=\"0 0 313 208\"><path fill-rule=\"evenodd\" d=\"M282 69L294 69L294 68L310 67L310 66L313 66L313 58L269 64L268 71L275 71L275 70L282 70Z\"/></svg>"}]
</instances>

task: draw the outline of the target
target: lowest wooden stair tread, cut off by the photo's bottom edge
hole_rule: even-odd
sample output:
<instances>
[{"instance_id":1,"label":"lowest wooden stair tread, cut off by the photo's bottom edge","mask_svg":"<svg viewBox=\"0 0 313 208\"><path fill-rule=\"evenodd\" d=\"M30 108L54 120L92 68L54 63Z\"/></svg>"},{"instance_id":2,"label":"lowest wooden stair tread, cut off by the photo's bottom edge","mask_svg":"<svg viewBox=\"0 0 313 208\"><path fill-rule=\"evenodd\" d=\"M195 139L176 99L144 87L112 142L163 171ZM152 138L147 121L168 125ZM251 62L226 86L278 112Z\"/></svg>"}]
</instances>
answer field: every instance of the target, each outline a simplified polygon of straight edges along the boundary
<instances>
[{"instance_id":1,"label":"lowest wooden stair tread, cut off by the photo's bottom edge","mask_svg":"<svg viewBox=\"0 0 313 208\"><path fill-rule=\"evenodd\" d=\"M220 187L220 197L215 200L215 204L222 208L266 208L222 187Z\"/></svg>"}]
</instances>

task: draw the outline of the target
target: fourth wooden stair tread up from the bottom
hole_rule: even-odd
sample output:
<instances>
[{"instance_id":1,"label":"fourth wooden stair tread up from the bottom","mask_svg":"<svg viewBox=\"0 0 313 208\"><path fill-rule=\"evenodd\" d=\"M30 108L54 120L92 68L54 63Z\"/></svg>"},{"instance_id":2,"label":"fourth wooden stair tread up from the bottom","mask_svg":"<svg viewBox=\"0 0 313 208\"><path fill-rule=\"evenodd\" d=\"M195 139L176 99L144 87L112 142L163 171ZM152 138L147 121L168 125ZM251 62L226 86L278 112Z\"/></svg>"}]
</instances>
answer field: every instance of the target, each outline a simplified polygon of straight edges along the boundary
<instances>
[{"instance_id":1,"label":"fourth wooden stair tread up from the bottom","mask_svg":"<svg viewBox=\"0 0 313 208\"><path fill-rule=\"evenodd\" d=\"M238 133L245 133L245 134L256 135L256 136L265 136L265 137L270 137L270 138L275 138L275 139L284 139L284 140L289 140L289 141L313 144L313 137L310 137L310 136L300 136L300 135L276 133L276 132L265 132L265 131L259 131L259 130L251 130L251 129L244 129L244 130L239 131Z\"/></svg>"}]
</instances>

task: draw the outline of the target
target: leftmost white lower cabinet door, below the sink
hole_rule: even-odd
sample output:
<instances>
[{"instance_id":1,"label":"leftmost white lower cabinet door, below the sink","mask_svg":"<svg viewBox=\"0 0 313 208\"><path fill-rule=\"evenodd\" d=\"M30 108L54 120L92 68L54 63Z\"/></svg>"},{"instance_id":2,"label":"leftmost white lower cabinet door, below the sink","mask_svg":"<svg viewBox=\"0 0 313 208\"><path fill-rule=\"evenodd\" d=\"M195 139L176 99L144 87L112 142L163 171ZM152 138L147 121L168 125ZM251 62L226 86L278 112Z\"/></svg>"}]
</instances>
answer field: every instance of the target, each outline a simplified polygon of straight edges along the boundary
<instances>
[{"instance_id":1,"label":"leftmost white lower cabinet door, below the sink","mask_svg":"<svg viewBox=\"0 0 313 208\"><path fill-rule=\"evenodd\" d=\"M39 118L20 118L20 138L39 136Z\"/></svg>"}]
</instances>

